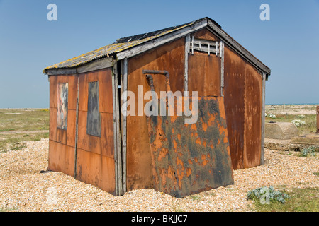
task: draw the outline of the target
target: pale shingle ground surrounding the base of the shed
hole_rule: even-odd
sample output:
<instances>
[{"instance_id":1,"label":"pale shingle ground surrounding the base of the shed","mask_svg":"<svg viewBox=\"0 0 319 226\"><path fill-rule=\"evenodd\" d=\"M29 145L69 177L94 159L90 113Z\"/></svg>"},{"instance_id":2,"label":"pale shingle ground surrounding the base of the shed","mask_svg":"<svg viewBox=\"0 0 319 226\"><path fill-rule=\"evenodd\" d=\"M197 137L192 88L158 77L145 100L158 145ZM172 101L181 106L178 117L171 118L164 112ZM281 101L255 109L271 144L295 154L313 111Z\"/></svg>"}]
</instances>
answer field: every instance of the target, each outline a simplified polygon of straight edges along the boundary
<instances>
[{"instance_id":1,"label":"pale shingle ground surrounding the base of the shed","mask_svg":"<svg viewBox=\"0 0 319 226\"><path fill-rule=\"evenodd\" d=\"M234 170L235 184L174 198L153 189L112 196L99 188L47 169L48 140L0 153L0 211L247 211L247 191L260 186L318 187L318 157L265 150L265 164Z\"/></svg>"}]
</instances>

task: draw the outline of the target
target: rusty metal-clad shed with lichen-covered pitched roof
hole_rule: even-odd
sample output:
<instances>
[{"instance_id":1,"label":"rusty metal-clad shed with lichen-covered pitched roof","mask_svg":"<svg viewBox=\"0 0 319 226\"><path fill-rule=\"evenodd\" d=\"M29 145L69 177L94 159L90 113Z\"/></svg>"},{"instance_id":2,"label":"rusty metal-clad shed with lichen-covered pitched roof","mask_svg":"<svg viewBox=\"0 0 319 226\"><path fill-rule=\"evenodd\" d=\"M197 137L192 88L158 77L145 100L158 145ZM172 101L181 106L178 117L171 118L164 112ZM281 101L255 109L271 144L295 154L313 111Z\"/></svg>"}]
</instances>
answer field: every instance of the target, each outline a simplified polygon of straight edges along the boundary
<instances>
[{"instance_id":1,"label":"rusty metal-clad shed with lichen-covered pitched roof","mask_svg":"<svg viewBox=\"0 0 319 226\"><path fill-rule=\"evenodd\" d=\"M154 169L155 160L160 156L154 157L155 144L150 141L152 127L149 126L156 125L150 124L144 114L134 116L121 112L121 107L128 102L127 95L123 95L125 91L138 95L138 86L142 86L144 95L151 90L143 70L168 71L172 92L197 91L201 100L208 102L210 98L218 107L218 119L213 117L213 120L220 120L215 124L220 137L211 148L219 147L223 138L222 165L230 167L216 169L219 173L225 169L227 177L216 179L215 168L213 172L207 169L211 178L215 178L211 183L207 174L202 176L186 167L193 162L202 168L207 162L209 165L209 153L198 157L191 153L188 163L183 163L178 155L175 162L166 162L167 171ZM185 196L232 184L231 169L255 167L264 161L264 95L270 69L211 18L123 37L113 44L48 66L43 73L50 81L48 169L52 171L64 172L114 195L155 187L174 196ZM167 90L164 76L153 75L152 82L156 92ZM136 105L140 105L138 100ZM209 112L205 106L201 110L201 115ZM199 121L203 127L207 122ZM177 129L184 130L183 127ZM192 132L185 134L193 136ZM214 140L213 134L211 140ZM169 134L166 135L167 141ZM189 140L192 141L191 137ZM196 141L196 145L206 147L209 140L206 137L205 141ZM196 145L192 148L196 149ZM170 148L177 149L176 144ZM174 152L165 147L163 150ZM231 161L227 159L229 155ZM211 164L216 167L215 163ZM174 172L169 165L181 168ZM175 184L173 182L168 190L159 186L165 186L172 177L176 177ZM206 182L195 186L201 177ZM170 189L176 190L176 186L183 190L181 186L186 185L179 181L183 178L192 180L187 182L189 191L170 192Z\"/></svg>"}]
</instances>

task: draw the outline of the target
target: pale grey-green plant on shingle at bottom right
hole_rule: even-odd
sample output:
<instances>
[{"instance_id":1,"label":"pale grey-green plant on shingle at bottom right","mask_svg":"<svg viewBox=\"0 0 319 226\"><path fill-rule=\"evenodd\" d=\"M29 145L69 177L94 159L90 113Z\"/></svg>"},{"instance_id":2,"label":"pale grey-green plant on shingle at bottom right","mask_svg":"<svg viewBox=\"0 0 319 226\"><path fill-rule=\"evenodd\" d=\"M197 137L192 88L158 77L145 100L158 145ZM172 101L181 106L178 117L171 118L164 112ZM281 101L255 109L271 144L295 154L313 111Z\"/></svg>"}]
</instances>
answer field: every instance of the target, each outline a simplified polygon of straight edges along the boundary
<instances>
[{"instance_id":1,"label":"pale grey-green plant on shingle at bottom right","mask_svg":"<svg viewBox=\"0 0 319 226\"><path fill-rule=\"evenodd\" d=\"M273 186L262 186L257 189L248 191L247 199L257 200L262 204L269 204L270 202L286 203L286 198L289 198L288 194L281 191L276 191Z\"/></svg>"}]
</instances>

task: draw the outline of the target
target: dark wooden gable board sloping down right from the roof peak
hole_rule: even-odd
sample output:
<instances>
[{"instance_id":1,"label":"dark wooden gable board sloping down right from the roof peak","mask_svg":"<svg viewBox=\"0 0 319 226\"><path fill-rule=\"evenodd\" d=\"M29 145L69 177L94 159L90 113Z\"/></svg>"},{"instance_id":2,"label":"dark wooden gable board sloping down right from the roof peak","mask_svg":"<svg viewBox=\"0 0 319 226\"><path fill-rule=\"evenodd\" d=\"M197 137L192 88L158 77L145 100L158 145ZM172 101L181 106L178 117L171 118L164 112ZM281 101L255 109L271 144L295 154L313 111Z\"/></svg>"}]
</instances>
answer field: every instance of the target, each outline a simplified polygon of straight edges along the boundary
<instances>
[{"instance_id":1,"label":"dark wooden gable board sloping down right from the roof peak","mask_svg":"<svg viewBox=\"0 0 319 226\"><path fill-rule=\"evenodd\" d=\"M270 69L262 64L259 59L254 57L250 52L247 51L244 47L242 47L238 42L236 42L230 35L228 35L225 31L218 28L216 24L214 24L211 20L208 20L208 30L210 30L214 35L218 36L221 40L223 40L228 46L233 49L235 52L240 54L241 57L250 62L253 66L256 66L259 71L270 74Z\"/></svg>"}]
</instances>

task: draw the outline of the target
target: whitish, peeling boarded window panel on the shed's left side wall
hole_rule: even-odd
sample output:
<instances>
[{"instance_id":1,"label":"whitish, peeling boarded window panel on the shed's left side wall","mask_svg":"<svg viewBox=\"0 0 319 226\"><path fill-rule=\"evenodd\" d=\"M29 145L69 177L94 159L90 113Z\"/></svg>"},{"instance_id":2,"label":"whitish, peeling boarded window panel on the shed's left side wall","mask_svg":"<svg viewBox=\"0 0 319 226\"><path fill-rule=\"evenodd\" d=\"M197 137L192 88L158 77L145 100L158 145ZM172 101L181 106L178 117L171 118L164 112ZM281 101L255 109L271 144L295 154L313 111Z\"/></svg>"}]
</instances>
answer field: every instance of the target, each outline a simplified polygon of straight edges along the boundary
<instances>
[{"instance_id":1,"label":"whitish, peeling boarded window panel on the shed's left side wall","mask_svg":"<svg viewBox=\"0 0 319 226\"><path fill-rule=\"evenodd\" d=\"M57 83L57 128L60 129L67 129L68 89L68 83Z\"/></svg>"}]
</instances>

